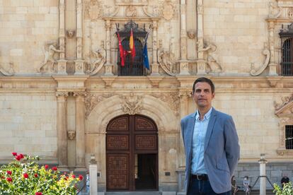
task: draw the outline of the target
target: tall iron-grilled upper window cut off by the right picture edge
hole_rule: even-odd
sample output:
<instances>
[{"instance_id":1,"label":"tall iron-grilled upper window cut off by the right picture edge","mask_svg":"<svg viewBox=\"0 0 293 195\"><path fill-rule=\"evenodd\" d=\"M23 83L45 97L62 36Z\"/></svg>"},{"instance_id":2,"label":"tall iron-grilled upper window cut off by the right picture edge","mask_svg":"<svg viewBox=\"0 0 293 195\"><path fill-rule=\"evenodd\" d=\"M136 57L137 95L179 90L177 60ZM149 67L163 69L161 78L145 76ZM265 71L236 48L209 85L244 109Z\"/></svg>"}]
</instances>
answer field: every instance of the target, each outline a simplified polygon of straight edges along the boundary
<instances>
[{"instance_id":1,"label":"tall iron-grilled upper window cut off by the right picture edge","mask_svg":"<svg viewBox=\"0 0 293 195\"><path fill-rule=\"evenodd\" d=\"M293 76L293 23L287 26L287 30L280 30L282 62L282 76Z\"/></svg>"}]
</instances>

